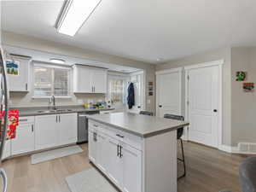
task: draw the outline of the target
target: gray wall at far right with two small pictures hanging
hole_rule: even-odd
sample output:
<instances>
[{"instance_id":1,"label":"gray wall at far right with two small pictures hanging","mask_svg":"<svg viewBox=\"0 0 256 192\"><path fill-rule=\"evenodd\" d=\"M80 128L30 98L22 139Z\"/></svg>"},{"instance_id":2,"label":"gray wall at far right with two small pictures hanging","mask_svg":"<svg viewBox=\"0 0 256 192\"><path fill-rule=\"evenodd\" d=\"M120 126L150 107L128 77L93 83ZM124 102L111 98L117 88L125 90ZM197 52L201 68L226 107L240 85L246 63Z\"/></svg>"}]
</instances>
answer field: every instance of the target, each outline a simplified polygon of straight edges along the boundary
<instances>
[{"instance_id":1,"label":"gray wall at far right with two small pictures hanging","mask_svg":"<svg viewBox=\"0 0 256 192\"><path fill-rule=\"evenodd\" d=\"M236 72L247 72L245 82L256 83L256 48L232 48L232 145L256 143L256 93L244 92Z\"/></svg>"}]
</instances>

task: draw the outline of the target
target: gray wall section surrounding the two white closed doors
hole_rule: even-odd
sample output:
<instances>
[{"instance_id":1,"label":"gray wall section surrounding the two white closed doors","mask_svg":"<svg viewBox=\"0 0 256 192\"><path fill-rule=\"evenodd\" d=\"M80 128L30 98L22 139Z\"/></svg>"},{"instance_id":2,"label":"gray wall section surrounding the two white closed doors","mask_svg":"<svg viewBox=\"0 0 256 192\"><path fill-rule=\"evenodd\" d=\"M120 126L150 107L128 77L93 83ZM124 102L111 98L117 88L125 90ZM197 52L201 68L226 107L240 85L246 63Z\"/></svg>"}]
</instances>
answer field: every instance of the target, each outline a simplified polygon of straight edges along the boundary
<instances>
[{"instance_id":1,"label":"gray wall section surrounding the two white closed doors","mask_svg":"<svg viewBox=\"0 0 256 192\"><path fill-rule=\"evenodd\" d=\"M223 67L223 144L231 144L231 49L223 48L207 51L198 55L191 55L177 60L169 61L156 67L156 71L184 67L209 61L224 59ZM184 83L183 83L184 87ZM183 89L183 112L185 108Z\"/></svg>"}]
</instances>

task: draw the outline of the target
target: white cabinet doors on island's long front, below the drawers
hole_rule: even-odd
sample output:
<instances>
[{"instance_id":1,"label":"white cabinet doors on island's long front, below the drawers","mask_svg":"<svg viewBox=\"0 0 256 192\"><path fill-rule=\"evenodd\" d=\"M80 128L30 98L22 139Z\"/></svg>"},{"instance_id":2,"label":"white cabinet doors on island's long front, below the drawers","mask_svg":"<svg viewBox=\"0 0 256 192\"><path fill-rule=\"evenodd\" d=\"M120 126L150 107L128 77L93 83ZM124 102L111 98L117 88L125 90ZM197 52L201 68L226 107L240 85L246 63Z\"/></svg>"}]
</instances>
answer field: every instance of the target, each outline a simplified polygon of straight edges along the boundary
<instances>
[{"instance_id":1,"label":"white cabinet doors on island's long front, below the drawers","mask_svg":"<svg viewBox=\"0 0 256 192\"><path fill-rule=\"evenodd\" d=\"M89 127L89 159L121 191L142 191L142 151L103 133L100 126Z\"/></svg>"}]
</instances>

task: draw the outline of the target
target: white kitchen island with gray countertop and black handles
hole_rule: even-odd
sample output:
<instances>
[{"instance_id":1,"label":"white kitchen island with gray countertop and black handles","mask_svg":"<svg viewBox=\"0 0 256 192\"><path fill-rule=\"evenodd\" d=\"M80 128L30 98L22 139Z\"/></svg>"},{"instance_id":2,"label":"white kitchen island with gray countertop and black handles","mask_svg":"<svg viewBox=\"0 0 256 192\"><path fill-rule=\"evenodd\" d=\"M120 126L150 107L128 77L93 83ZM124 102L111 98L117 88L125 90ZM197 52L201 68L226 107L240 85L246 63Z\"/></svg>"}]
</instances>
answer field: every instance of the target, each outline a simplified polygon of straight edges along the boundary
<instances>
[{"instance_id":1,"label":"white kitchen island with gray countertop and black handles","mask_svg":"<svg viewBox=\"0 0 256 192\"><path fill-rule=\"evenodd\" d=\"M177 192L177 129L135 113L89 117L89 160L124 192Z\"/></svg>"}]
</instances>

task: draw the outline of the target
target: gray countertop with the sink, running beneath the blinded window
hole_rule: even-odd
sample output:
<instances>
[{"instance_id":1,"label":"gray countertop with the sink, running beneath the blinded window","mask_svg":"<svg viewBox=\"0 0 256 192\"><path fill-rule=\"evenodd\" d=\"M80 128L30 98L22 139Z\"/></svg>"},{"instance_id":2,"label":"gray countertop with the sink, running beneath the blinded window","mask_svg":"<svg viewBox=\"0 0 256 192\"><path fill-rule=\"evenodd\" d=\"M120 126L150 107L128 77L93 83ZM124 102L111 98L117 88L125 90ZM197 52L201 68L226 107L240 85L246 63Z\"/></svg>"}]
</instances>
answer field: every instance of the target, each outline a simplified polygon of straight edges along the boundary
<instances>
[{"instance_id":1,"label":"gray countertop with the sink, running beneath the blinded window","mask_svg":"<svg viewBox=\"0 0 256 192\"><path fill-rule=\"evenodd\" d=\"M49 107L31 107L31 108L10 108L20 110L20 117L24 116L37 116L37 115L47 115L55 113L80 113L80 112L89 112L89 111L106 111L113 110L114 108L84 108L83 106L56 106L60 111L52 111ZM48 111L47 113L40 113L39 111Z\"/></svg>"}]
</instances>

